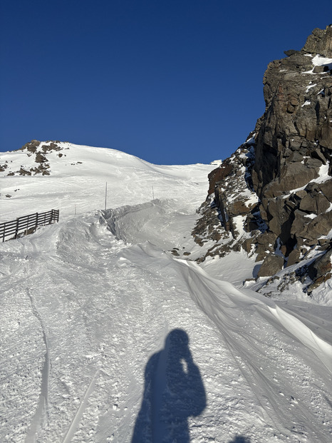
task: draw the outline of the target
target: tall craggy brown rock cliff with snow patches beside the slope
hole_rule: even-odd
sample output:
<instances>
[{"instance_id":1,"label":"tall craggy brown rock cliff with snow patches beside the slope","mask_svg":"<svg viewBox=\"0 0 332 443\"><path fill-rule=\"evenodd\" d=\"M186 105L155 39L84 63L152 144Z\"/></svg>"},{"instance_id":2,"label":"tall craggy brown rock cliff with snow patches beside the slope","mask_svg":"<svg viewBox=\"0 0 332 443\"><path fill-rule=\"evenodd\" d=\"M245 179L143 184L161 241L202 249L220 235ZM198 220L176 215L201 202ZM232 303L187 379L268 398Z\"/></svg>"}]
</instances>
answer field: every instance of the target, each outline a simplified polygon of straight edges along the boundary
<instances>
[{"instance_id":1,"label":"tall craggy brown rock cliff with snow patches beside the slope","mask_svg":"<svg viewBox=\"0 0 332 443\"><path fill-rule=\"evenodd\" d=\"M314 29L301 51L285 54L264 74L266 109L254 133L209 174L193 234L198 243L212 238L207 227L219 219L209 254L244 248L263 260L259 277L316 251L296 271L311 277L310 292L331 277L332 26Z\"/></svg>"}]
</instances>

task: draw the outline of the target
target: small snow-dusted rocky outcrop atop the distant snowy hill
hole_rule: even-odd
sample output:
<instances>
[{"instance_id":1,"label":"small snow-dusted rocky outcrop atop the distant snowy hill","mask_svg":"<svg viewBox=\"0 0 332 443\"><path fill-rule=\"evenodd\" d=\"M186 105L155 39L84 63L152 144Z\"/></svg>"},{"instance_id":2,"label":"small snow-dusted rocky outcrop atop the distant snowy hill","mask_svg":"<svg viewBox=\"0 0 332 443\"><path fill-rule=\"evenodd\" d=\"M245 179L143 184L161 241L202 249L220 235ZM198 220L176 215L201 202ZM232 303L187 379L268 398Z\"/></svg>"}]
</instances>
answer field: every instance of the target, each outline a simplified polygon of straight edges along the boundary
<instances>
[{"instance_id":1,"label":"small snow-dusted rocky outcrop atop the distant snowy hill","mask_svg":"<svg viewBox=\"0 0 332 443\"><path fill-rule=\"evenodd\" d=\"M58 141L47 141L45 143L38 140L29 141L18 151L26 153L28 158L33 157L33 161L27 159L26 164L21 165L19 169L13 168L11 163L6 161L0 164L0 172L5 172L5 175L50 175L50 164L46 155L54 151L63 151L64 148L59 143ZM57 155L60 158L66 156L66 154L60 152Z\"/></svg>"}]
</instances>

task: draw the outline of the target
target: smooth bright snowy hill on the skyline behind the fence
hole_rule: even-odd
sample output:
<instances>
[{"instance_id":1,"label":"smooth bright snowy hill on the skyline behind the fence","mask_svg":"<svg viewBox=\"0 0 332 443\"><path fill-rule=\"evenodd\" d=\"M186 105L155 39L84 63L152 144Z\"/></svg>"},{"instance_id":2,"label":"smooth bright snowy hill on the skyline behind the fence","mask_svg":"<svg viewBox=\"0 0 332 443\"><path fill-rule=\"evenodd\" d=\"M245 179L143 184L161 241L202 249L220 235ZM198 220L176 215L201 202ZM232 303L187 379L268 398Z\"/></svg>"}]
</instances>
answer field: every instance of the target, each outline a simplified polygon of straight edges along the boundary
<instances>
[{"instance_id":1,"label":"smooth bright snowy hill on the skyline behind the fence","mask_svg":"<svg viewBox=\"0 0 332 443\"><path fill-rule=\"evenodd\" d=\"M0 153L0 222L51 208L60 209L62 218L105 208L106 183L107 207L176 199L182 193L186 205L196 208L213 169L153 165L114 149L65 142L36 142L32 147L36 149Z\"/></svg>"}]
</instances>

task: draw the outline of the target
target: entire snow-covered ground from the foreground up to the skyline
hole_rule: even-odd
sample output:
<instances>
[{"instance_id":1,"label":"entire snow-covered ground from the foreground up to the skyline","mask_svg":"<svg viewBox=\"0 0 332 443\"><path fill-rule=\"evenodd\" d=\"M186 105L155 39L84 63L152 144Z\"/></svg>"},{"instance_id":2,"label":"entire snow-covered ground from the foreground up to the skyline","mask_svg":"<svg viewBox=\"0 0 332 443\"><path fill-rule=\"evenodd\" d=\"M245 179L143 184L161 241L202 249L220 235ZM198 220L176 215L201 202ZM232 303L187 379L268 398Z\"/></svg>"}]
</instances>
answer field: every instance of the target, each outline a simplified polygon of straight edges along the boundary
<instances>
[{"instance_id":1,"label":"entire snow-covered ground from the foreground up to the skyline","mask_svg":"<svg viewBox=\"0 0 332 443\"><path fill-rule=\"evenodd\" d=\"M0 177L0 222L61 217L0 244L0 441L331 442L331 288L274 300L243 251L196 263L215 166L61 146Z\"/></svg>"}]
</instances>

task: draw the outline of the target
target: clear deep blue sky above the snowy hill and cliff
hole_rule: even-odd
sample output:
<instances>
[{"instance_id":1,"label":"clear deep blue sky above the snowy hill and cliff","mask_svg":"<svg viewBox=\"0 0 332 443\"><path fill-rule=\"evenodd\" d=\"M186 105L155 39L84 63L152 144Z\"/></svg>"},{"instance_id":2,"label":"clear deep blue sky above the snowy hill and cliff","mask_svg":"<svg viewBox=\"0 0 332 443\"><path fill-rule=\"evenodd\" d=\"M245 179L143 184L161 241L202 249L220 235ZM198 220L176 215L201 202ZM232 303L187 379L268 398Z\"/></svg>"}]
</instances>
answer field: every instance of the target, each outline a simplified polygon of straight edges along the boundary
<instances>
[{"instance_id":1,"label":"clear deep blue sky above the snowy hill and cliff","mask_svg":"<svg viewBox=\"0 0 332 443\"><path fill-rule=\"evenodd\" d=\"M0 151L33 138L209 163L264 112L269 61L332 1L1 0Z\"/></svg>"}]
</instances>

